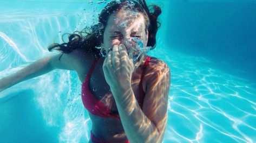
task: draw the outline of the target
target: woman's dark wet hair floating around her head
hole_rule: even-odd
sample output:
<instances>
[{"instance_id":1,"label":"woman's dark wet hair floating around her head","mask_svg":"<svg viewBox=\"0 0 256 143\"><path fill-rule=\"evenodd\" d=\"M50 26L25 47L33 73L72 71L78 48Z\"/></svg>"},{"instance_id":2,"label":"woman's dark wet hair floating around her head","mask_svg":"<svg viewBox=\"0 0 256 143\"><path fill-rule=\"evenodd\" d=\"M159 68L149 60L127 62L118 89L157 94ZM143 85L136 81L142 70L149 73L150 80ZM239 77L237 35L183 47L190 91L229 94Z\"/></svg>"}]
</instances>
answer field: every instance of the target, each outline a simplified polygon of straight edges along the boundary
<instances>
[{"instance_id":1,"label":"woman's dark wet hair floating around her head","mask_svg":"<svg viewBox=\"0 0 256 143\"><path fill-rule=\"evenodd\" d=\"M95 47L101 46L103 41L104 27L107 25L107 20L112 13L120 10L121 8L143 13L146 28L148 30L147 46L151 46L151 49L154 49L156 46L156 33L161 26L161 24L157 21L157 18L161 14L161 8L157 5L150 5L149 9L145 0L117 0L109 2L104 7L99 15L99 24L86 27L82 31L75 31L73 34L69 34L68 42L64 42L62 44L51 44L48 47L48 50L51 52L53 49L55 49L62 53L70 53L74 49L83 49L90 54L100 55L100 49Z\"/></svg>"}]
</instances>

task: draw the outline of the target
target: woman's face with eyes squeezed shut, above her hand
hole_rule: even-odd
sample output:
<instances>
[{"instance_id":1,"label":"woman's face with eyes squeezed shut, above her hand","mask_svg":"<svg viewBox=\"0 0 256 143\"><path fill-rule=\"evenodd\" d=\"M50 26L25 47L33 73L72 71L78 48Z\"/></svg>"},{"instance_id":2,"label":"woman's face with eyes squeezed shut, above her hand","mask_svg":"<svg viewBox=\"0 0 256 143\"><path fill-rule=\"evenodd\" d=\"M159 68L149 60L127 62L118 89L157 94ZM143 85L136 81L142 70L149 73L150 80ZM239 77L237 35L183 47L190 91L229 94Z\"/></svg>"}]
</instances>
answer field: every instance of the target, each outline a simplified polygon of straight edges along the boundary
<instances>
[{"instance_id":1,"label":"woman's face with eyes squeezed shut, above her hand","mask_svg":"<svg viewBox=\"0 0 256 143\"><path fill-rule=\"evenodd\" d=\"M128 38L139 38L147 45L148 31L145 31L145 18L141 12L121 9L110 15L104 30L102 47L108 51L114 45L125 44ZM129 47L126 45L127 51Z\"/></svg>"}]
</instances>

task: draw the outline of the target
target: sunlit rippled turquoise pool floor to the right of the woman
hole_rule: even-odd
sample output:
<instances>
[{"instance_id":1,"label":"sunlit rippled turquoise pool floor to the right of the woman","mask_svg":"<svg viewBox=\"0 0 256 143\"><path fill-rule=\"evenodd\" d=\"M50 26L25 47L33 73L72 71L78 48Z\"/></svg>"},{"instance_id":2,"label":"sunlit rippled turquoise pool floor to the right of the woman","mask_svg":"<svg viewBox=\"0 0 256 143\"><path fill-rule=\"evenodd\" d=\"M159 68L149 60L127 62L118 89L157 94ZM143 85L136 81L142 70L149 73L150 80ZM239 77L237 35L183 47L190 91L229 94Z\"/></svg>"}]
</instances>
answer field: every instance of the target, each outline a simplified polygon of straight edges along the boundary
<instances>
[{"instance_id":1,"label":"sunlit rippled turquoise pool floor to the right of the woman","mask_svg":"<svg viewBox=\"0 0 256 143\"><path fill-rule=\"evenodd\" d=\"M255 82L168 46L154 52L150 54L164 59L172 74L165 142L256 140Z\"/></svg>"}]
</instances>

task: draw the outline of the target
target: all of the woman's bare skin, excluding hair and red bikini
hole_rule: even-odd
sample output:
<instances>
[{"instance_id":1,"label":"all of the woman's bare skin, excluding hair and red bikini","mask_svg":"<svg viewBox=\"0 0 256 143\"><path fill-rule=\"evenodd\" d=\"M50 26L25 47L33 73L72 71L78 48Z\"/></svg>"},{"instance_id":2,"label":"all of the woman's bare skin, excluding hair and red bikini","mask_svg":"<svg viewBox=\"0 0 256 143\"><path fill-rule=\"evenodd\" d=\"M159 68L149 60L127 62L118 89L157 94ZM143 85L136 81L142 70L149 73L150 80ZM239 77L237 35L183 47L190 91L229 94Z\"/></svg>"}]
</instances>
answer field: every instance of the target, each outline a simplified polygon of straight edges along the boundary
<instances>
[{"instance_id":1,"label":"all of the woman's bare skin, excluding hair and red bikini","mask_svg":"<svg viewBox=\"0 0 256 143\"><path fill-rule=\"evenodd\" d=\"M107 58L101 58L97 62L91 74L89 88L107 108L113 112L118 111L121 120L97 117L89 113L92 122L91 131L97 138L109 142L123 142L127 138L130 142L162 141L167 124L169 68L165 62L157 58L150 60L142 82L146 94L141 110L137 100L140 97L139 83L146 56L142 55L140 60L133 62L132 57L127 53L129 47L123 45L124 41L130 37L139 37L143 44L147 45L148 31L145 31L145 28L145 21L141 13L131 13L121 9L108 19L104 29L102 47L113 50L109 52ZM75 49L70 54L63 54L61 60L58 60L60 55L49 56L31 64L17 72L15 76L11 76L14 77L11 79L15 80L1 79L0 91L53 69L75 70L83 82L95 59L94 55L82 49ZM115 68L111 67L113 63ZM120 72L120 67L122 72ZM6 85L3 84L1 87L1 83L6 83ZM125 97L127 98L125 99Z\"/></svg>"}]
</instances>

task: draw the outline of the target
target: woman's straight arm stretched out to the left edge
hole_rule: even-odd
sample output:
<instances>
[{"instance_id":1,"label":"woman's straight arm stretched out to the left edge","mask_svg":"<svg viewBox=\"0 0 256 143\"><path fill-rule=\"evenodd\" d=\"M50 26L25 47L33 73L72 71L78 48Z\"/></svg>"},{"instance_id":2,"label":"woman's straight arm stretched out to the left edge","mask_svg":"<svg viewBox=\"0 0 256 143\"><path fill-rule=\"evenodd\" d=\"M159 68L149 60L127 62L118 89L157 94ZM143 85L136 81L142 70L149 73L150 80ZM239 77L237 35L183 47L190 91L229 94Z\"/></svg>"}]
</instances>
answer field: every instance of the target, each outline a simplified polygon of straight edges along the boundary
<instances>
[{"instance_id":1,"label":"woman's straight arm stretched out to the left edge","mask_svg":"<svg viewBox=\"0 0 256 143\"><path fill-rule=\"evenodd\" d=\"M0 92L4 89L12 87L15 84L29 80L30 78L49 73L49 71L54 69L76 70L76 52L77 51L69 54L47 56L31 63L12 75L3 77L0 79Z\"/></svg>"}]
</instances>

